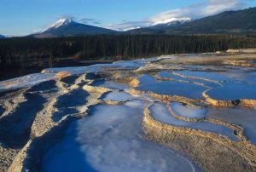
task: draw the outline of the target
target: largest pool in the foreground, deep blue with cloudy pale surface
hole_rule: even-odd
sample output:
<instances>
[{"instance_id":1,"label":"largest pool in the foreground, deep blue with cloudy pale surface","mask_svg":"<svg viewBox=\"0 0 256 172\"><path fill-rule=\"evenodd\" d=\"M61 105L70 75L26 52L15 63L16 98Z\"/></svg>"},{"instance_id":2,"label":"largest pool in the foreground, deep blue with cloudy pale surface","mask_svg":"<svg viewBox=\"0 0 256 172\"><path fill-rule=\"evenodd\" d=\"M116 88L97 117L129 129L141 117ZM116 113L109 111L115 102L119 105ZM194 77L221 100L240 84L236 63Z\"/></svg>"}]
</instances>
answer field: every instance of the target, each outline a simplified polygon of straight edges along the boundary
<instances>
[{"instance_id":1,"label":"largest pool in the foreground, deep blue with cloudy pale surface","mask_svg":"<svg viewBox=\"0 0 256 172\"><path fill-rule=\"evenodd\" d=\"M94 106L44 155L42 171L199 171L188 158L143 138L143 104Z\"/></svg>"}]
</instances>

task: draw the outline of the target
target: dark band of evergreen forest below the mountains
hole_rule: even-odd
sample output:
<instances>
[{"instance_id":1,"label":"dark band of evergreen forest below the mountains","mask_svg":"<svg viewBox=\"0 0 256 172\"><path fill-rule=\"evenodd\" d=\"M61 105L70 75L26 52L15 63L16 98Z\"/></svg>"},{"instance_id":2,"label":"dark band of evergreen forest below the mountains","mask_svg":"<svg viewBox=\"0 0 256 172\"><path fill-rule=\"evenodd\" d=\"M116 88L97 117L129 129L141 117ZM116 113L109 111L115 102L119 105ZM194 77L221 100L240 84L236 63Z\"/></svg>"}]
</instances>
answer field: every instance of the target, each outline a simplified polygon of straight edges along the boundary
<instances>
[{"instance_id":1,"label":"dark band of evergreen forest below the mountains","mask_svg":"<svg viewBox=\"0 0 256 172\"><path fill-rule=\"evenodd\" d=\"M42 60L130 60L162 54L256 48L253 35L96 35L84 37L0 39L0 66L22 66Z\"/></svg>"}]
</instances>

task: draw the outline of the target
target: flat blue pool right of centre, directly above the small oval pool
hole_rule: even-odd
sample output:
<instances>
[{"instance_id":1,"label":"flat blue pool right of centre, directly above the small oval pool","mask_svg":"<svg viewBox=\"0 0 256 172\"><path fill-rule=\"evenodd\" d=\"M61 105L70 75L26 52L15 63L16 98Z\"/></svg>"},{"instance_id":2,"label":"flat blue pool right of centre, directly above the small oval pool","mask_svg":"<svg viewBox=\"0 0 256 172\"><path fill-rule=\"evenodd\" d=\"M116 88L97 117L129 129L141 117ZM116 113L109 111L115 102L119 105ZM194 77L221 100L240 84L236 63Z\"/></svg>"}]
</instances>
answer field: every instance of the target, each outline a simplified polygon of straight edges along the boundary
<instances>
[{"instance_id":1,"label":"flat blue pool right of centre, directly above the small oval pool","mask_svg":"<svg viewBox=\"0 0 256 172\"><path fill-rule=\"evenodd\" d=\"M191 99L201 99L201 93L206 90L206 88L193 83L157 81L154 77L148 75L139 77L139 81L140 85L137 87L138 90L150 91L160 95L178 95Z\"/></svg>"}]
</instances>

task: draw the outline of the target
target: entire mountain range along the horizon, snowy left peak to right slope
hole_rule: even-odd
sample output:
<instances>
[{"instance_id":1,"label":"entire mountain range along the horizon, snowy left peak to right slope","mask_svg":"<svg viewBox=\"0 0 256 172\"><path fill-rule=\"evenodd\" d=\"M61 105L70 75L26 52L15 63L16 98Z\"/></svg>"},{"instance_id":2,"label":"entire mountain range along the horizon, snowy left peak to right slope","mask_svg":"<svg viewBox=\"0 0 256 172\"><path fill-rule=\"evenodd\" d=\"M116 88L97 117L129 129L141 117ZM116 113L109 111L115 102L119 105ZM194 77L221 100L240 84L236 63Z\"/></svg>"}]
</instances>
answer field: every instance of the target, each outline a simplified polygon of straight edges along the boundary
<instances>
[{"instance_id":1,"label":"entire mountain range along the horizon, snowy left peak to right slope","mask_svg":"<svg viewBox=\"0 0 256 172\"><path fill-rule=\"evenodd\" d=\"M256 8L226 11L199 20L170 19L153 26L118 32L77 23L70 19L58 20L44 32L29 37L71 37L98 34L215 34L256 32Z\"/></svg>"}]
</instances>

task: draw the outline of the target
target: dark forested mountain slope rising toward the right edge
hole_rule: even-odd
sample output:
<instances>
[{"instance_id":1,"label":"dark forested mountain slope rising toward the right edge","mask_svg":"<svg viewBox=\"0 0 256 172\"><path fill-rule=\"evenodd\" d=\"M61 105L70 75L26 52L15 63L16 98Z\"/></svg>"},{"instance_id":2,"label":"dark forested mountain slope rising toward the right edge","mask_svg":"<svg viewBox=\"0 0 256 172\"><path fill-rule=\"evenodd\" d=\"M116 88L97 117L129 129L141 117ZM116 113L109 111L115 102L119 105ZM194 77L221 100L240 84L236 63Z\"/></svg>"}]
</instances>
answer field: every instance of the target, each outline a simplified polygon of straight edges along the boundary
<instances>
[{"instance_id":1,"label":"dark forested mountain slope rising toward the right edge","mask_svg":"<svg viewBox=\"0 0 256 172\"><path fill-rule=\"evenodd\" d=\"M137 32L142 33L140 29L138 29ZM151 32L154 33L155 31ZM164 26L159 28L158 32L166 34L256 32L256 8L226 11L221 14L212 15L199 20L184 22L182 25Z\"/></svg>"}]
</instances>

